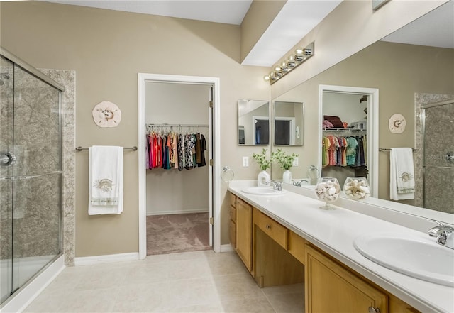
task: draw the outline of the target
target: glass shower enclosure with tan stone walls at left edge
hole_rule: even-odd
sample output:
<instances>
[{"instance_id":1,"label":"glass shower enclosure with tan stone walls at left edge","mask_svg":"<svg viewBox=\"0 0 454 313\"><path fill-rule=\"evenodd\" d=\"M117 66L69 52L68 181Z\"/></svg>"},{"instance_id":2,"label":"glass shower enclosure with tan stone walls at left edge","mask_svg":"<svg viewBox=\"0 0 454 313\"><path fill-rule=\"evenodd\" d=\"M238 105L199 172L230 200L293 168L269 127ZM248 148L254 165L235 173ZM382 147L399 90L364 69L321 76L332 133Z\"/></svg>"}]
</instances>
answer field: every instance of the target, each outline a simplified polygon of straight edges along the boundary
<instances>
[{"instance_id":1,"label":"glass shower enclosure with tan stone walls at left edge","mask_svg":"<svg viewBox=\"0 0 454 313\"><path fill-rule=\"evenodd\" d=\"M62 251L62 91L1 49L0 303Z\"/></svg>"}]
</instances>

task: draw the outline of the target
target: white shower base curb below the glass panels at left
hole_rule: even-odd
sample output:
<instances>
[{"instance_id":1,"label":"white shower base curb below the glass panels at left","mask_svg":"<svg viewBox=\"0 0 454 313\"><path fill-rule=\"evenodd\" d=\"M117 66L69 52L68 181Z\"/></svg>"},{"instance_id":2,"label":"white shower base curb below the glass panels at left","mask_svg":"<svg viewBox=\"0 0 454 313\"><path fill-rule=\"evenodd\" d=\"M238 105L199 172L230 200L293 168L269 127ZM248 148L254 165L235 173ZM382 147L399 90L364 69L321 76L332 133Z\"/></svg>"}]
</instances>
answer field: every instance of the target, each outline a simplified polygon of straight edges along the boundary
<instances>
[{"instance_id":1,"label":"white shower base curb below the glass panels at left","mask_svg":"<svg viewBox=\"0 0 454 313\"><path fill-rule=\"evenodd\" d=\"M65 269L65 256L60 256L57 258L54 263L50 264L48 268L43 270L40 275L36 276L31 282L28 283L25 287L22 287L18 290L11 300L6 300L0 312L1 313L10 313L10 312L23 312L26 307L36 297L44 290L45 287L48 287L50 282L54 280L58 274Z\"/></svg>"}]
</instances>

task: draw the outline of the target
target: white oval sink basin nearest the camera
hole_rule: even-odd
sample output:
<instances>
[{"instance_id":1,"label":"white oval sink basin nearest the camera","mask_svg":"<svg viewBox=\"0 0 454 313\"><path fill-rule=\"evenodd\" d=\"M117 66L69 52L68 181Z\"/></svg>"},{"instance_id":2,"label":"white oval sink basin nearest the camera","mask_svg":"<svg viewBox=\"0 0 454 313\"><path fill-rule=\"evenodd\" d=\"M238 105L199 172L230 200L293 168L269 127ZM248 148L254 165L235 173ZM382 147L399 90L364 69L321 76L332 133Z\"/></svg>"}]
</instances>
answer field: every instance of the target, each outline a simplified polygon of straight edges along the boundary
<instances>
[{"instance_id":1,"label":"white oval sink basin nearest the camera","mask_svg":"<svg viewBox=\"0 0 454 313\"><path fill-rule=\"evenodd\" d=\"M454 250L438 245L433 238L370 235L356 238L353 244L363 256L385 268L454 287Z\"/></svg>"}]
</instances>

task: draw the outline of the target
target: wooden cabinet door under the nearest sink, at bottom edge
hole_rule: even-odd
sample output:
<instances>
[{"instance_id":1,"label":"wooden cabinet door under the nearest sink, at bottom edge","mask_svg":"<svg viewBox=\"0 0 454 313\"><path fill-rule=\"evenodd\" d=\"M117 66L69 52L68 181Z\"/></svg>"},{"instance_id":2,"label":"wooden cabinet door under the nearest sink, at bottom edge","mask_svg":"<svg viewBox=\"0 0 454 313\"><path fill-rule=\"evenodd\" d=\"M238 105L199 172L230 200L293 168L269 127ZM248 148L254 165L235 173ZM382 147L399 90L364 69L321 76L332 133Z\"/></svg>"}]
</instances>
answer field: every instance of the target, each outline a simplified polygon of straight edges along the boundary
<instances>
[{"instance_id":1,"label":"wooden cabinet door under the nearest sink, at bottom edge","mask_svg":"<svg viewBox=\"0 0 454 313\"><path fill-rule=\"evenodd\" d=\"M388 297L331 258L306 246L306 313L388 312Z\"/></svg>"}]
</instances>

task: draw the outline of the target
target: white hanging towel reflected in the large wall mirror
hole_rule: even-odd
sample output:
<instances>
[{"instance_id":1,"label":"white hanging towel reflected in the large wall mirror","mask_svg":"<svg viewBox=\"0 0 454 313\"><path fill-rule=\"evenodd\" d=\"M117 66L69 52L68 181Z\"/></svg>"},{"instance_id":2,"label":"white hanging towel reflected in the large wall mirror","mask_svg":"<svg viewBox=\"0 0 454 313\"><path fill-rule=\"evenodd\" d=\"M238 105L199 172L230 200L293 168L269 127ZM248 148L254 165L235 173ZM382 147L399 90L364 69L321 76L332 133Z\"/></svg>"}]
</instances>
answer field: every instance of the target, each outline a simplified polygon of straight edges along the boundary
<instances>
[{"instance_id":1,"label":"white hanging towel reflected in the large wall mirror","mask_svg":"<svg viewBox=\"0 0 454 313\"><path fill-rule=\"evenodd\" d=\"M389 197L393 200L414 199L413 149L392 148L389 168Z\"/></svg>"}]
</instances>

